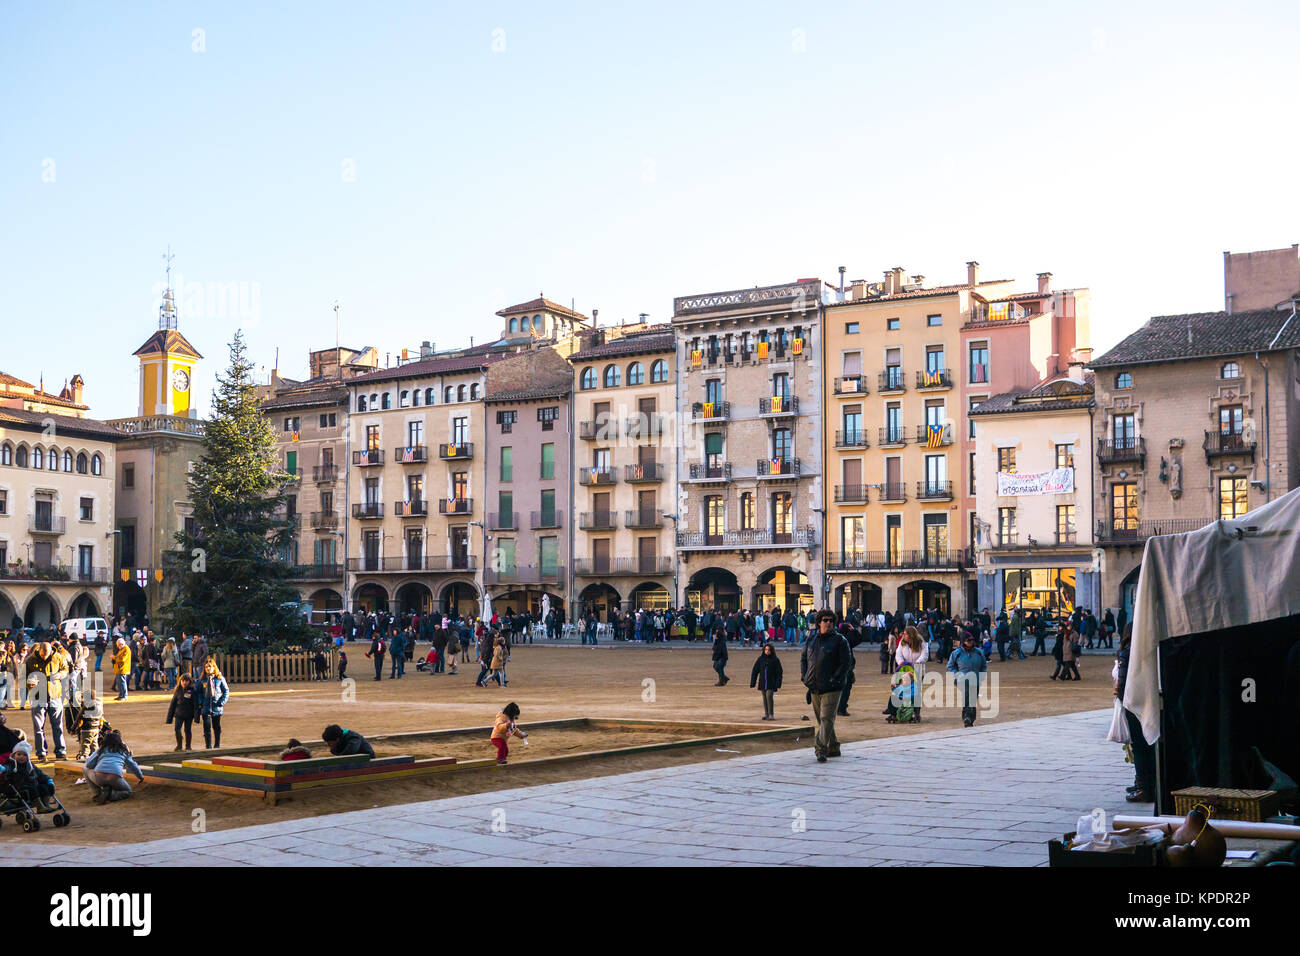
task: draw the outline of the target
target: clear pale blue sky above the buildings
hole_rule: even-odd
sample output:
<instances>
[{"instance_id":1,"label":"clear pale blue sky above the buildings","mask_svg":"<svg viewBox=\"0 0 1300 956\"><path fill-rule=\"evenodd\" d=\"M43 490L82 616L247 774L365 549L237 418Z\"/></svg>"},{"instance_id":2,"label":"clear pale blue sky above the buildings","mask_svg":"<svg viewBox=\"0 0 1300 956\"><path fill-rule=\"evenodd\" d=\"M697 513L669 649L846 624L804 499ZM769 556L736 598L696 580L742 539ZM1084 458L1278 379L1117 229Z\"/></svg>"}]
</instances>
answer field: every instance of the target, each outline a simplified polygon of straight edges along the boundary
<instances>
[{"instance_id":1,"label":"clear pale blue sky above the buildings","mask_svg":"<svg viewBox=\"0 0 1300 956\"><path fill-rule=\"evenodd\" d=\"M0 3L0 369L135 414L168 243L246 294L182 319L207 407L235 326L303 375L335 299L396 352L979 259L1104 349L1300 242L1294 3L261 7Z\"/></svg>"}]
</instances>

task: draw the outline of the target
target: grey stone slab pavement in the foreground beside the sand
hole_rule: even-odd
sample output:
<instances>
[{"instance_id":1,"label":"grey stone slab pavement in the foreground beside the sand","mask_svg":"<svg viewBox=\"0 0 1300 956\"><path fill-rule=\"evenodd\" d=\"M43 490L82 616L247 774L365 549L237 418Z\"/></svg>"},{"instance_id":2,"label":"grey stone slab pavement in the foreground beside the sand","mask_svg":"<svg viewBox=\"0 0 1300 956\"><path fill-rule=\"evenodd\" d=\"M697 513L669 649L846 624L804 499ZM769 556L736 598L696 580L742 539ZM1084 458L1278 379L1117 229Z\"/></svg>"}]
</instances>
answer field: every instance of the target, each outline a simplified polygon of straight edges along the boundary
<instances>
[{"instance_id":1,"label":"grey stone slab pavement in the foreground beside the sand","mask_svg":"<svg viewBox=\"0 0 1300 956\"><path fill-rule=\"evenodd\" d=\"M1109 722L1095 710L864 740L827 763L809 748L110 848L0 839L25 866L1044 866L1080 814L1126 806L1132 769Z\"/></svg>"}]
</instances>

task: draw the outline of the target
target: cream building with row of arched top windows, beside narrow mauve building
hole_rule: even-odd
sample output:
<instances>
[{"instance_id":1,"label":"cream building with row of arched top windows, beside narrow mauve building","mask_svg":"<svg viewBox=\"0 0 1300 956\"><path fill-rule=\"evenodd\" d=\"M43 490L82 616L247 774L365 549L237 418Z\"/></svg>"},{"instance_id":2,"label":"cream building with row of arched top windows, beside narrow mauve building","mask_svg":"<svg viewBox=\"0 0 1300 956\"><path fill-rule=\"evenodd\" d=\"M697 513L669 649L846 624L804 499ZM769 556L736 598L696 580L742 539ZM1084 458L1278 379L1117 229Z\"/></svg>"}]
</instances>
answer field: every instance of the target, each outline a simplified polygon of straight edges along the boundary
<instances>
[{"instance_id":1,"label":"cream building with row of arched top windows, beside narrow mauve building","mask_svg":"<svg viewBox=\"0 0 1300 956\"><path fill-rule=\"evenodd\" d=\"M573 593L611 610L673 605L677 362L671 325L601 329L569 356ZM664 516L670 515L670 516Z\"/></svg>"}]
</instances>

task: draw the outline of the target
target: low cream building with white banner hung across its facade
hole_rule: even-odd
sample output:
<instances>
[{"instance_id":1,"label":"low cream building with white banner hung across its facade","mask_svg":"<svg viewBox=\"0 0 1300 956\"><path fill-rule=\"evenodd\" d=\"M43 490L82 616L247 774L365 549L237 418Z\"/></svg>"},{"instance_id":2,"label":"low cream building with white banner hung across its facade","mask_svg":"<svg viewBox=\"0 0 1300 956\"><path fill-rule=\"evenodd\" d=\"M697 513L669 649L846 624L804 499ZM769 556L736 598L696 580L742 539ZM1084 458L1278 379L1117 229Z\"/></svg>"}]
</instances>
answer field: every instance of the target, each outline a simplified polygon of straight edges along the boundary
<instances>
[{"instance_id":1,"label":"low cream building with white banner hung across its facade","mask_svg":"<svg viewBox=\"0 0 1300 956\"><path fill-rule=\"evenodd\" d=\"M1101 607L1093 544L1095 401L1082 363L970 411L978 609L1053 617Z\"/></svg>"}]
</instances>

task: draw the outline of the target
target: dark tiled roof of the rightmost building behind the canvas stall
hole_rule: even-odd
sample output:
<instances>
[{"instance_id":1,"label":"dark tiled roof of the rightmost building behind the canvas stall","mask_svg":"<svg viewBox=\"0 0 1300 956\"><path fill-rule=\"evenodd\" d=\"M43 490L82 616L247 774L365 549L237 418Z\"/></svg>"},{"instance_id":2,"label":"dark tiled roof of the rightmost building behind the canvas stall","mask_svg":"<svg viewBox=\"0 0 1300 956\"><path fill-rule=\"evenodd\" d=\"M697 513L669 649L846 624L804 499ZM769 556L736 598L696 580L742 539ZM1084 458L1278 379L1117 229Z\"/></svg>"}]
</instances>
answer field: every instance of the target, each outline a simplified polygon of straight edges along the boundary
<instances>
[{"instance_id":1,"label":"dark tiled roof of the rightmost building behind the canvas stall","mask_svg":"<svg viewBox=\"0 0 1300 956\"><path fill-rule=\"evenodd\" d=\"M1291 310L1271 308L1231 313L1157 315L1095 359L1092 368L1297 349L1300 317L1291 316Z\"/></svg>"}]
</instances>

